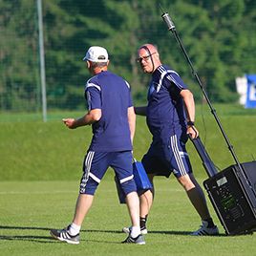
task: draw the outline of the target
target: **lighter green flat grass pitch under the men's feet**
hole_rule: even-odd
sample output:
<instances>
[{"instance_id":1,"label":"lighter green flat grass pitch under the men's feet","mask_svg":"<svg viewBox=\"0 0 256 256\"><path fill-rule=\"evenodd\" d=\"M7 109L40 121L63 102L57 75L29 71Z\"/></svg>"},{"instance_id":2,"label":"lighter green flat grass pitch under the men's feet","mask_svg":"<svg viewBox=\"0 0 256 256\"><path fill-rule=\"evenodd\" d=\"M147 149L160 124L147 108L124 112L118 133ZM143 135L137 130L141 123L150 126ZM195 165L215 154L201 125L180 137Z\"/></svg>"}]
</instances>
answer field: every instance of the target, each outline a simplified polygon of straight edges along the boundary
<instances>
[{"instance_id":1,"label":"lighter green flat grass pitch under the men's feet","mask_svg":"<svg viewBox=\"0 0 256 256\"><path fill-rule=\"evenodd\" d=\"M200 220L175 179L156 180L157 194L149 218L146 245L121 245L129 224L115 183L102 181L81 231L80 245L53 240L50 228L72 220L77 182L0 182L0 255L255 255L256 235L191 237ZM213 212L211 205L210 209Z\"/></svg>"}]
</instances>

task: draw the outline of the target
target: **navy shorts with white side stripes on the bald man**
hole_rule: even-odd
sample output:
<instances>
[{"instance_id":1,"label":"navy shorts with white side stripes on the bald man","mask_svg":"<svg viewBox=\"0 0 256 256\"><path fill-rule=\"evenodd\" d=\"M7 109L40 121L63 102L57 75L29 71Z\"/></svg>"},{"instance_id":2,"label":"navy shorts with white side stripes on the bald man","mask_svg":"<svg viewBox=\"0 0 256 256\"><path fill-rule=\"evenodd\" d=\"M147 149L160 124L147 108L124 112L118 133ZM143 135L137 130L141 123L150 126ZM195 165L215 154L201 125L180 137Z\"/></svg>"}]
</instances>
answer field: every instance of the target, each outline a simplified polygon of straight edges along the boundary
<instances>
[{"instance_id":1,"label":"navy shorts with white side stripes on the bald man","mask_svg":"<svg viewBox=\"0 0 256 256\"><path fill-rule=\"evenodd\" d=\"M176 134L166 143L152 143L141 162L148 174L169 177L173 172L177 178L192 173L192 166L185 149L187 135Z\"/></svg>"}]
</instances>

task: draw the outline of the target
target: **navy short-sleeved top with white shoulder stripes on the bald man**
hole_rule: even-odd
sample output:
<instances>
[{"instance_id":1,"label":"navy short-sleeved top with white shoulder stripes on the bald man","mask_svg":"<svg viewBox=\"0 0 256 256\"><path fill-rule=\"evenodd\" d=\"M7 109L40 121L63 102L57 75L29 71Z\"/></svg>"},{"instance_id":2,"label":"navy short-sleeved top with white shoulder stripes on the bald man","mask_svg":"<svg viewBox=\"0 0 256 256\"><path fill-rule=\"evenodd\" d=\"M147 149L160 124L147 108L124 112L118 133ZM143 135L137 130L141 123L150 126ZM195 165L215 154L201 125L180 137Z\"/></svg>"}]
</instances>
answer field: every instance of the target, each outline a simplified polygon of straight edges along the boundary
<instances>
[{"instance_id":1,"label":"navy short-sleeved top with white shoulder stripes on the bald man","mask_svg":"<svg viewBox=\"0 0 256 256\"><path fill-rule=\"evenodd\" d=\"M153 143L167 143L177 130L185 129L186 118L180 96L183 89L187 89L187 86L180 75L168 66L160 65L153 73L146 115Z\"/></svg>"}]
</instances>

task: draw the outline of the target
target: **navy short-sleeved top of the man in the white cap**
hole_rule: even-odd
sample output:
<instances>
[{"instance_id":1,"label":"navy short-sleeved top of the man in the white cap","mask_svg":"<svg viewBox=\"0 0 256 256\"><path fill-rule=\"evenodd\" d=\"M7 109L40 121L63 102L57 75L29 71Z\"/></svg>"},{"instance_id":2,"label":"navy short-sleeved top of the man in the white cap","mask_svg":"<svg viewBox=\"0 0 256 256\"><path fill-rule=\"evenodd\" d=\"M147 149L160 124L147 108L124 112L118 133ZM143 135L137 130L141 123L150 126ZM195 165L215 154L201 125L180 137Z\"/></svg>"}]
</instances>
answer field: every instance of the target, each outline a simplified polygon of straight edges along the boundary
<instances>
[{"instance_id":1,"label":"navy short-sleeved top of the man in the white cap","mask_svg":"<svg viewBox=\"0 0 256 256\"><path fill-rule=\"evenodd\" d=\"M133 106L130 86L109 71L90 78L85 87L88 109L101 109L101 118L93 123L89 150L117 152L132 150L128 108Z\"/></svg>"}]
</instances>

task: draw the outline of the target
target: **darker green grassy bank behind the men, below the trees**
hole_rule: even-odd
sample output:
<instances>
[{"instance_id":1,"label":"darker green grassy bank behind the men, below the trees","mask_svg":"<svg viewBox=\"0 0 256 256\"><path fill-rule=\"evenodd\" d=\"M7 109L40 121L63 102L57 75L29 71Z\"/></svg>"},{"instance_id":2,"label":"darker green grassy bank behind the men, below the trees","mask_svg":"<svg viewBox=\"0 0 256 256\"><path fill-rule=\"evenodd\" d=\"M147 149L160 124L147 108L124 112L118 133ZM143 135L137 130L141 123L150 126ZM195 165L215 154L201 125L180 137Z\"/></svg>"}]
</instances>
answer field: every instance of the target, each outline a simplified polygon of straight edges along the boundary
<instances>
[{"instance_id":1,"label":"darker green grassy bank behind the men, below the trees","mask_svg":"<svg viewBox=\"0 0 256 256\"><path fill-rule=\"evenodd\" d=\"M241 106L216 107L224 130L240 161L256 159L256 110ZM33 120L32 115L0 114L1 181L77 181L83 156L92 138L91 127L69 130L62 117L83 113L50 113L49 121ZM35 116L36 117L36 116ZM234 163L219 127L207 106L199 106L196 124L205 147L222 170ZM151 136L145 118L137 118L134 155L140 160ZM205 177L202 162L192 143L187 143L195 174Z\"/></svg>"}]
</instances>

